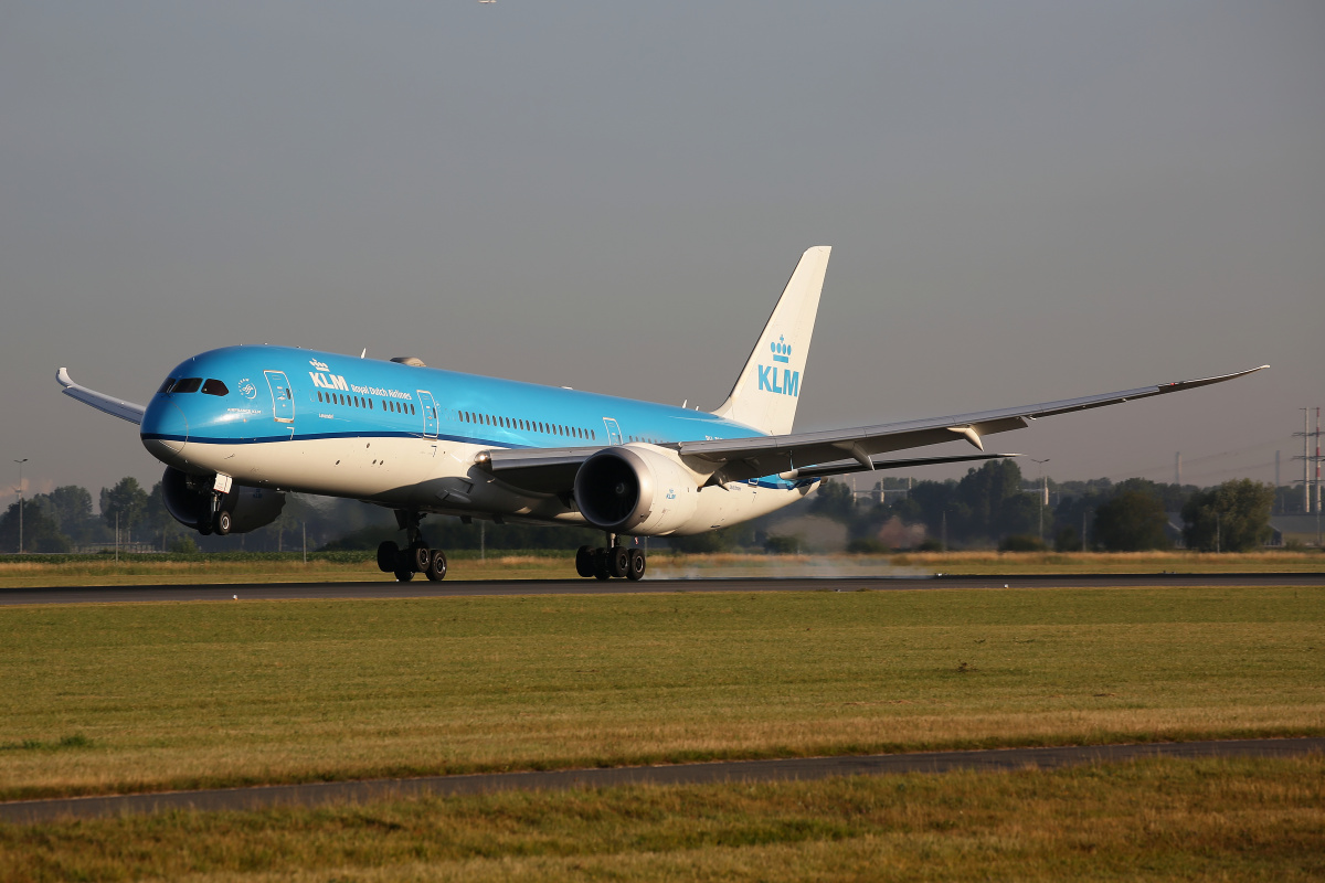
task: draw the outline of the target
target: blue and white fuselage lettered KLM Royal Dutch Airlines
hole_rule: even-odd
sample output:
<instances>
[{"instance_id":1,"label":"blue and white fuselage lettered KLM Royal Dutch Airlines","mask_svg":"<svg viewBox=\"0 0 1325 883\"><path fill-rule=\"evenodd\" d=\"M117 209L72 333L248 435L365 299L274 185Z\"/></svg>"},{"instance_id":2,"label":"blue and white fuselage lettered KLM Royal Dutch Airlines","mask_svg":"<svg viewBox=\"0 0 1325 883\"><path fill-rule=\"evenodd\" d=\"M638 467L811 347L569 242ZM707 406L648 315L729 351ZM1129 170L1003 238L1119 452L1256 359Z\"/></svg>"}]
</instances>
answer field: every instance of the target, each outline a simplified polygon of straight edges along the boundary
<instances>
[{"instance_id":1,"label":"blue and white fuselage lettered KLM Royal Dutch Airlines","mask_svg":"<svg viewBox=\"0 0 1325 883\"><path fill-rule=\"evenodd\" d=\"M795 395L788 383L778 383L780 395ZM571 496L505 483L480 455L625 446L676 459L676 442L763 434L672 405L270 346L225 347L180 363L140 424L143 445L166 465L241 486L566 524L584 523ZM816 483L768 475L669 487L697 496L694 515L666 532L746 520Z\"/></svg>"}]
</instances>

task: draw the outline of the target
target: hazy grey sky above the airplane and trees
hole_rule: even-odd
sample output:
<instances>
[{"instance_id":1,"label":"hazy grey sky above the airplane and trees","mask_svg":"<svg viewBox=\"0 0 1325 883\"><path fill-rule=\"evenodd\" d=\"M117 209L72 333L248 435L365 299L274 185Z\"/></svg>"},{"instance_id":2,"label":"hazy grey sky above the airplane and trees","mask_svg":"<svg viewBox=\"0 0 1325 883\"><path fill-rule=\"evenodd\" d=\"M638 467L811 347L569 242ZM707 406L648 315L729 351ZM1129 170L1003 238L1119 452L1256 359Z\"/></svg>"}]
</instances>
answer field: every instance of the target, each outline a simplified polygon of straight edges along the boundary
<instances>
[{"instance_id":1,"label":"hazy grey sky above the airplane and trees","mask_svg":"<svg viewBox=\"0 0 1325 883\"><path fill-rule=\"evenodd\" d=\"M1325 4L0 0L7 491L160 477L56 368L233 343L713 408L822 244L798 429L1271 363L991 446L1300 475Z\"/></svg>"}]
</instances>

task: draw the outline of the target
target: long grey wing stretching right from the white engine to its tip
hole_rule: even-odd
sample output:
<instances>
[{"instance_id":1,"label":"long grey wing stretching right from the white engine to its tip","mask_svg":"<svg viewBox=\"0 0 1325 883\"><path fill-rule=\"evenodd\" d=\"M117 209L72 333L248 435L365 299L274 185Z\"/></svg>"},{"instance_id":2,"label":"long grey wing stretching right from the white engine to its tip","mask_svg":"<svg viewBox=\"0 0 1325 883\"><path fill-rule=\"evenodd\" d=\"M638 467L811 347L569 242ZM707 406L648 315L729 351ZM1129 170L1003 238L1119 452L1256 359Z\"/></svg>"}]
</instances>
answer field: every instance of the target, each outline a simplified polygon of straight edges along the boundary
<instances>
[{"instance_id":1,"label":"long grey wing stretching right from the white engine to its tip","mask_svg":"<svg viewBox=\"0 0 1325 883\"><path fill-rule=\"evenodd\" d=\"M1097 396L1060 398L1057 401L1047 401L1036 405L1000 408L996 410L951 414L947 417L933 417L928 420L910 420L896 424L859 426L855 429L792 433L788 436L755 436L747 438L692 441L682 442L680 445L680 450L682 455L702 457L714 462L786 454L794 458L794 462L788 462L788 465L784 466L786 469L836 461L841 459L844 455L863 459L876 453L904 450L906 447L920 447L924 445L937 445L962 437L969 438L973 443L980 446L980 436L1020 429L1026 426L1027 420L1039 420L1040 417L1067 414L1075 410L1085 410L1088 408L1117 405L1125 401L1132 401L1133 398L1149 398L1150 396L1163 396L1171 392L1195 389L1196 387L1208 387L1211 384L1234 380L1235 377L1243 377L1268 367L1269 365L1260 365L1231 375L1219 375L1216 377L1182 380L1155 387L1138 387L1136 389L1106 392ZM763 466L772 467L774 465L775 463L770 461Z\"/></svg>"}]
</instances>

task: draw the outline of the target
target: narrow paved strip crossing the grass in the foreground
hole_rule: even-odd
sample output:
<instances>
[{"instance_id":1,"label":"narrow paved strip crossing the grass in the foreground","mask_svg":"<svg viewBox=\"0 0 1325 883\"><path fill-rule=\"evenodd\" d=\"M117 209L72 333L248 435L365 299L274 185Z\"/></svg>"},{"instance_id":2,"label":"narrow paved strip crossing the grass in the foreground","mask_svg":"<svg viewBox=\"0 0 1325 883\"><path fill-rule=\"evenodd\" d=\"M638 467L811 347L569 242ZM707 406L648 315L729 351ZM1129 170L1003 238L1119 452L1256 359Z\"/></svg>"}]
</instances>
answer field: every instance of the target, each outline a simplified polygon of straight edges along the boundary
<instances>
[{"instance_id":1,"label":"narrow paved strip crossing the grass in the foreground","mask_svg":"<svg viewBox=\"0 0 1325 883\"><path fill-rule=\"evenodd\" d=\"M938 751L908 755L745 760L668 767L564 769L529 773L372 778L350 782L265 785L155 794L69 797L0 804L0 821L46 822L62 818L99 818L168 810L233 812L272 806L325 806L363 804L424 796L482 794L501 790L560 790L620 785L696 785L710 782L768 782L816 780L829 776L888 776L943 773L955 769L1059 769L1084 764L1112 764L1143 757L1301 757L1325 752L1325 739L1240 739L1220 741L1157 743L1145 745L1080 745L1068 748L1003 748L992 751Z\"/></svg>"}]
</instances>

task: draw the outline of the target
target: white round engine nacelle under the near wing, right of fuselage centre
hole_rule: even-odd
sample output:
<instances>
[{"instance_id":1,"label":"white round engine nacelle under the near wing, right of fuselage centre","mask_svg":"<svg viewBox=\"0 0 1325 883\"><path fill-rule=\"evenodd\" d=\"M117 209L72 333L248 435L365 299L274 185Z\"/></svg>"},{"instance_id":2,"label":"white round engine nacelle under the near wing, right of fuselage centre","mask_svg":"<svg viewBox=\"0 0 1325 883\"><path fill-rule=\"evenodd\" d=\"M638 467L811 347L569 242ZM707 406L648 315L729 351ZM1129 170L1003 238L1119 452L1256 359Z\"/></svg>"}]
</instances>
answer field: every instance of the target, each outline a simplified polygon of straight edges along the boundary
<instances>
[{"instance_id":1,"label":"white round engine nacelle under the near wing, right of fuselage centre","mask_svg":"<svg viewBox=\"0 0 1325 883\"><path fill-rule=\"evenodd\" d=\"M584 520L613 534L661 536L684 527L698 507L698 482L674 454L644 446L604 447L575 474Z\"/></svg>"}]
</instances>

